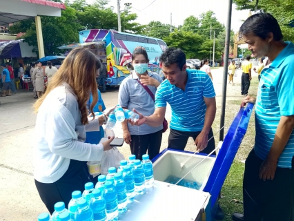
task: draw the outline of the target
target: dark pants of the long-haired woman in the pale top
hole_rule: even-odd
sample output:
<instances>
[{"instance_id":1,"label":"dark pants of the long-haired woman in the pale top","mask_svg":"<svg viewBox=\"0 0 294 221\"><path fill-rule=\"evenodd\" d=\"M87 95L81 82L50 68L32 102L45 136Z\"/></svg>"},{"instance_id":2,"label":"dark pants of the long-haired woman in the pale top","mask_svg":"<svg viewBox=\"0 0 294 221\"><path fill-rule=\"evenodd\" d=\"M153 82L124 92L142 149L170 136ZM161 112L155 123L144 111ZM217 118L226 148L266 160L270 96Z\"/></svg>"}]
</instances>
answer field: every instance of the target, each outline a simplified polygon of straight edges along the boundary
<instances>
[{"instance_id":1,"label":"dark pants of the long-haired woman in the pale top","mask_svg":"<svg viewBox=\"0 0 294 221\"><path fill-rule=\"evenodd\" d=\"M54 212L54 204L57 202L64 202L68 208L72 192L81 191L83 193L84 185L87 182L90 180L85 170L85 162L77 160L70 160L68 170L56 182L44 184L35 180L41 200L51 214Z\"/></svg>"}]
</instances>

